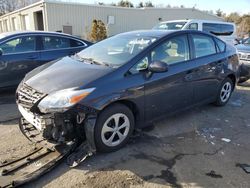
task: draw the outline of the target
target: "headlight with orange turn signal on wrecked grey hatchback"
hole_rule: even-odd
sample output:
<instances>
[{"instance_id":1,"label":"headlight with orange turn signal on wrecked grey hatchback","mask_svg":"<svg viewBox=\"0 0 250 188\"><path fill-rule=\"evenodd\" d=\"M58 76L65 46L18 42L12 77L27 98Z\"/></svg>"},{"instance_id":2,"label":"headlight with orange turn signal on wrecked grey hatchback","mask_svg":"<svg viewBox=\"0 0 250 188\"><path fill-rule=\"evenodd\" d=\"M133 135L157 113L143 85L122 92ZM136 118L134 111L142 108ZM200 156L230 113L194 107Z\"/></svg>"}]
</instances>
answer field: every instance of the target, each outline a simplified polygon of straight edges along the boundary
<instances>
[{"instance_id":1,"label":"headlight with orange turn signal on wrecked grey hatchback","mask_svg":"<svg viewBox=\"0 0 250 188\"><path fill-rule=\"evenodd\" d=\"M75 90L75 88L64 89L51 93L41 100L38 108L42 113L64 112L80 100L87 97L95 88Z\"/></svg>"}]
</instances>

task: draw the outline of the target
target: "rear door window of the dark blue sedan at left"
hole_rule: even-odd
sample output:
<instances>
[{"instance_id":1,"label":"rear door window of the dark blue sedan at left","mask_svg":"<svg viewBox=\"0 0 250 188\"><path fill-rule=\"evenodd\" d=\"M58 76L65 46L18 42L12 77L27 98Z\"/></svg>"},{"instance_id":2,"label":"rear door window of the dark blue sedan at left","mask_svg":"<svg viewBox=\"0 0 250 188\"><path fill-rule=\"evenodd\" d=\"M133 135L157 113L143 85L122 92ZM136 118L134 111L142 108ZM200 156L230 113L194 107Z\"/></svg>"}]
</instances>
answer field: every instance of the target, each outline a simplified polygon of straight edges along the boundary
<instances>
[{"instance_id":1,"label":"rear door window of the dark blue sedan at left","mask_svg":"<svg viewBox=\"0 0 250 188\"><path fill-rule=\"evenodd\" d=\"M45 36L45 37L42 37L42 42L43 42L44 50L61 49L61 48L70 47L70 41L68 38Z\"/></svg>"}]
</instances>

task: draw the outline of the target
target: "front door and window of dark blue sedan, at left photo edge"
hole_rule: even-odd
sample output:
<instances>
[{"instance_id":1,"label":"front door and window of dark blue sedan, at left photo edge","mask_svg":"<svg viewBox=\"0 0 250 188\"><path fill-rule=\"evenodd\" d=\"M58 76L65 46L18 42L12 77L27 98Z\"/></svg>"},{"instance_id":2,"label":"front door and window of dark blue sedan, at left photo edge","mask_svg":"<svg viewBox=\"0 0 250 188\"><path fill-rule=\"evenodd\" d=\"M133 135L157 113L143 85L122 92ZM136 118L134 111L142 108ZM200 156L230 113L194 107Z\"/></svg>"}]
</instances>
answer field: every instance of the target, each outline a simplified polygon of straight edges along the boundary
<instances>
[{"instance_id":1,"label":"front door and window of dark blue sedan, at left photo edge","mask_svg":"<svg viewBox=\"0 0 250 188\"><path fill-rule=\"evenodd\" d=\"M18 36L0 44L0 87L18 85L25 74L38 66L35 35Z\"/></svg>"}]
</instances>

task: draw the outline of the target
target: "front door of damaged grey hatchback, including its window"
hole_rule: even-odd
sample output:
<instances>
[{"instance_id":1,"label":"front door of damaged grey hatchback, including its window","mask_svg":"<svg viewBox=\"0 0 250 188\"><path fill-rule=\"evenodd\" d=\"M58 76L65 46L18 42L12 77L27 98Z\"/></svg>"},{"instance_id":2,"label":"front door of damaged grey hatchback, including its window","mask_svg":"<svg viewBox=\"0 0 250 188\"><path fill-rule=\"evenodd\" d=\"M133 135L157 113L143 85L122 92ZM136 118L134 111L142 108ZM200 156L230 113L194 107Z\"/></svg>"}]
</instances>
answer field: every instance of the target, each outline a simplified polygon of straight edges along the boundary
<instances>
[{"instance_id":1,"label":"front door of damaged grey hatchback, including its window","mask_svg":"<svg viewBox=\"0 0 250 188\"><path fill-rule=\"evenodd\" d=\"M146 121L174 113L192 104L192 63L187 35L167 39L150 53L151 62L169 65L164 73L153 73L145 81Z\"/></svg>"}]
</instances>

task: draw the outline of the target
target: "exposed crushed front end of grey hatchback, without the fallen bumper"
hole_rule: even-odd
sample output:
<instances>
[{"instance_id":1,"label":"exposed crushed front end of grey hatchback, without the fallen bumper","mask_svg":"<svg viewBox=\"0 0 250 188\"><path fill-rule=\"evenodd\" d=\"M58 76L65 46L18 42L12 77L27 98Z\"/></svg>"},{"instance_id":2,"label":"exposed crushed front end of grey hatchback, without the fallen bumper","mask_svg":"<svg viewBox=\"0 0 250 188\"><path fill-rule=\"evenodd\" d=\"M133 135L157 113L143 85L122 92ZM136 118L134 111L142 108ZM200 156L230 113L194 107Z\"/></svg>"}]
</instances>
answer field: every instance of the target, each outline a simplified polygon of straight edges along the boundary
<instances>
[{"instance_id":1,"label":"exposed crushed front end of grey hatchback, without the fallen bumper","mask_svg":"<svg viewBox=\"0 0 250 188\"><path fill-rule=\"evenodd\" d=\"M38 104L46 96L25 83L17 89L16 100L22 114L20 129L28 139L53 150L56 145L83 142L87 134L92 134L86 131L88 121L96 117L95 110L76 104L66 112L42 113ZM89 142L94 151L94 140Z\"/></svg>"}]
</instances>

